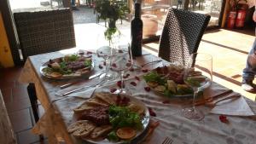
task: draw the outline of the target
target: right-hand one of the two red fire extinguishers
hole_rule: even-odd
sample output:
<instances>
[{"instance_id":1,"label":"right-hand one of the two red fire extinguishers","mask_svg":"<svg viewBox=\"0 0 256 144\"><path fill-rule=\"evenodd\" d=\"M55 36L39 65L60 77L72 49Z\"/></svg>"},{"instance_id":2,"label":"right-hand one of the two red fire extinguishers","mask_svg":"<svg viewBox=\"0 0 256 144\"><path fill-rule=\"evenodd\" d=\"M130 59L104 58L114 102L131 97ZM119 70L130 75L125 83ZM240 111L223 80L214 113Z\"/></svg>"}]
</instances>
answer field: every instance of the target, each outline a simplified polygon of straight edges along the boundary
<instances>
[{"instance_id":1,"label":"right-hand one of the two red fire extinguishers","mask_svg":"<svg viewBox=\"0 0 256 144\"><path fill-rule=\"evenodd\" d=\"M241 28L244 26L244 21L247 15L248 5L244 3L238 4L238 10L236 14L236 27Z\"/></svg>"}]
</instances>

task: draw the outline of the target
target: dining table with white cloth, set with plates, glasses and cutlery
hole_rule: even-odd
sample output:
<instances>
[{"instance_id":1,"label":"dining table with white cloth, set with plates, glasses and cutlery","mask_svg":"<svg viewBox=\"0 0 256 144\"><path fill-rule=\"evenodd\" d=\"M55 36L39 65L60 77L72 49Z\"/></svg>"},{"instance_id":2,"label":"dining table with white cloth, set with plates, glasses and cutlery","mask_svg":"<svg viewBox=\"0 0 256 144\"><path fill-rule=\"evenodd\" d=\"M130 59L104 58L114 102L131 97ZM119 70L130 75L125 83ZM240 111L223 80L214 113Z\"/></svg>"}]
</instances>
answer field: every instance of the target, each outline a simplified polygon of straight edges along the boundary
<instances>
[{"instance_id":1,"label":"dining table with white cloth, set with plates, glasses and cutlery","mask_svg":"<svg viewBox=\"0 0 256 144\"><path fill-rule=\"evenodd\" d=\"M255 102L212 81L211 55L206 65L206 57L198 62L199 53L186 64L171 64L146 52L132 59L129 44L109 48L69 49L66 54L53 52L26 60L20 82L35 84L45 110L34 134L47 135L49 143L78 144L256 141ZM90 57L89 63L83 59L91 67L86 76L49 78L42 72L41 66L67 54ZM99 113L100 118L91 116ZM131 115L137 120L124 120ZM123 119L114 123L116 117Z\"/></svg>"}]
</instances>

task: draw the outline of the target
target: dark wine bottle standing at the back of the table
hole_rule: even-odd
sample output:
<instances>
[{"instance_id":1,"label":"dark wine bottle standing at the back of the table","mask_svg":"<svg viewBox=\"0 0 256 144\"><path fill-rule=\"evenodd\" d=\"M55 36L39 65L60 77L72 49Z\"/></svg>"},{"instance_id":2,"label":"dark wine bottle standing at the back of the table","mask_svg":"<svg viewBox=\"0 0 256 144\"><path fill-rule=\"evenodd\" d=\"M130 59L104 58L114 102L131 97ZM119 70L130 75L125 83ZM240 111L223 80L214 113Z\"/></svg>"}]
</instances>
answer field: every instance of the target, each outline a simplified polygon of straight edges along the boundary
<instances>
[{"instance_id":1,"label":"dark wine bottle standing at the back of the table","mask_svg":"<svg viewBox=\"0 0 256 144\"><path fill-rule=\"evenodd\" d=\"M131 20L131 53L132 56L142 55L143 20L141 20L141 3L135 3L135 15Z\"/></svg>"}]
</instances>

